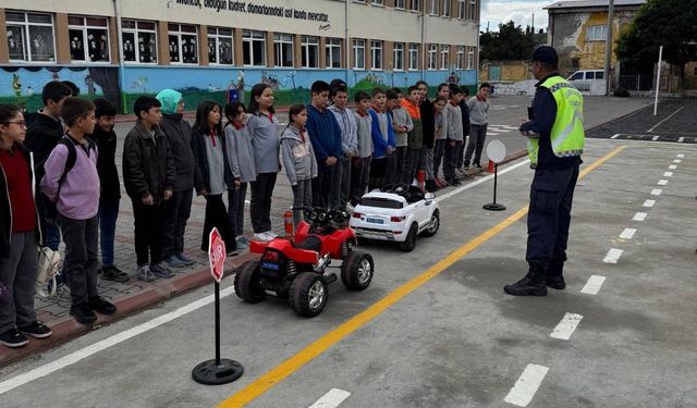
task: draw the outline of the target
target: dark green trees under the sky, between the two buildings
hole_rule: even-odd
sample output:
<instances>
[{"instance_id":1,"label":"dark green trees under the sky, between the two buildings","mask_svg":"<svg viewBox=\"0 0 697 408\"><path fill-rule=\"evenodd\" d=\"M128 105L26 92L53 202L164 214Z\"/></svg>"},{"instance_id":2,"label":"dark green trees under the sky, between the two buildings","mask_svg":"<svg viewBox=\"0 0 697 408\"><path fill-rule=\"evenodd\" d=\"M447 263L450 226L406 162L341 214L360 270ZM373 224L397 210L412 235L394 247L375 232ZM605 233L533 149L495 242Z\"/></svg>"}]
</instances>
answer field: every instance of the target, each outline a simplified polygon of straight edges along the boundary
<instances>
[{"instance_id":1,"label":"dark green trees under the sky, between the two buildings","mask_svg":"<svg viewBox=\"0 0 697 408\"><path fill-rule=\"evenodd\" d=\"M697 1L697 0L696 0ZM524 32L513 22L499 24L499 32L487 32L479 39L481 59L487 61L527 60L535 49L535 30Z\"/></svg>"}]
</instances>

